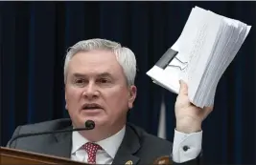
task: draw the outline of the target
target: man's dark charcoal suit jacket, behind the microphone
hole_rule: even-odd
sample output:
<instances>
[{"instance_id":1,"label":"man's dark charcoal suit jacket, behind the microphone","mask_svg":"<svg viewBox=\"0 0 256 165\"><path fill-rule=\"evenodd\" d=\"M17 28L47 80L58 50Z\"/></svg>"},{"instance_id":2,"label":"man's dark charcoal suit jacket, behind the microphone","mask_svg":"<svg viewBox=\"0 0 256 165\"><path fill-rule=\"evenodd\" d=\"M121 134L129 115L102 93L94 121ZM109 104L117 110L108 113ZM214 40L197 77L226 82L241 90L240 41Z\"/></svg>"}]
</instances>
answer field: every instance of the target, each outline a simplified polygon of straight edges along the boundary
<instances>
[{"instance_id":1,"label":"man's dark charcoal suit jacket, behind the microphone","mask_svg":"<svg viewBox=\"0 0 256 165\"><path fill-rule=\"evenodd\" d=\"M58 119L31 125L19 126L13 135L36 132L71 129L70 119ZM57 155L70 158L72 133L43 134L18 138L8 143L8 147L46 155ZM152 164L159 156L171 155L172 143L159 137L147 134L142 129L127 124L124 140L112 164L124 165L128 160L135 164ZM171 158L172 159L172 158ZM198 158L182 164L198 165Z\"/></svg>"}]
</instances>

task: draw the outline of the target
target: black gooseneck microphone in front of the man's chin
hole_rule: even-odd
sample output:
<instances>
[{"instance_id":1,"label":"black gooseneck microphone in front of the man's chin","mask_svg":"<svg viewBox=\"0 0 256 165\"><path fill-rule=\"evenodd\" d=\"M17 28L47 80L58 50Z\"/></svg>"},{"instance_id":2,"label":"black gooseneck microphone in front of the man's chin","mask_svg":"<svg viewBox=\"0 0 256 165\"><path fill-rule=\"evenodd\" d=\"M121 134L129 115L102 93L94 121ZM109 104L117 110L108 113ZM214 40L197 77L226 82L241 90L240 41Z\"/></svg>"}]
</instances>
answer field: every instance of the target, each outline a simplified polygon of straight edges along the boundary
<instances>
[{"instance_id":1,"label":"black gooseneck microphone in front of the man's chin","mask_svg":"<svg viewBox=\"0 0 256 165\"><path fill-rule=\"evenodd\" d=\"M58 130L58 131L50 131L50 132L38 132L38 133L29 133L29 134L17 134L12 137L12 139L9 142L9 146L12 146L12 142L16 140L17 138L21 137L28 137L28 136L34 136L34 135L41 135L41 134L58 134L58 133L66 133L66 132L78 132L82 130L93 130L95 128L95 122L92 120L87 120L84 123L84 128L77 128L77 129L69 129L69 130Z\"/></svg>"}]
</instances>

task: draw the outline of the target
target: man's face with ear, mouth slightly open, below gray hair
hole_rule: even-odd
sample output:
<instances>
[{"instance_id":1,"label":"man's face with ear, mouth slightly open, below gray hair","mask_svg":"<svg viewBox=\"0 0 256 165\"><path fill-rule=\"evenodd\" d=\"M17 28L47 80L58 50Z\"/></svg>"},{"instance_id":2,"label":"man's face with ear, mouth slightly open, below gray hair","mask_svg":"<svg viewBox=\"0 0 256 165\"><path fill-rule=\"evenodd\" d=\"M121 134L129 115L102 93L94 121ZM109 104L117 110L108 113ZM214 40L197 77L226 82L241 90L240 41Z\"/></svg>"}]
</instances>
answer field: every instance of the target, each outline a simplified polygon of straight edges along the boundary
<instances>
[{"instance_id":1,"label":"man's face with ear, mouth slightly open, below gray hair","mask_svg":"<svg viewBox=\"0 0 256 165\"><path fill-rule=\"evenodd\" d=\"M136 97L113 52L78 52L71 58L65 86L66 109L76 127L120 127Z\"/></svg>"}]
</instances>

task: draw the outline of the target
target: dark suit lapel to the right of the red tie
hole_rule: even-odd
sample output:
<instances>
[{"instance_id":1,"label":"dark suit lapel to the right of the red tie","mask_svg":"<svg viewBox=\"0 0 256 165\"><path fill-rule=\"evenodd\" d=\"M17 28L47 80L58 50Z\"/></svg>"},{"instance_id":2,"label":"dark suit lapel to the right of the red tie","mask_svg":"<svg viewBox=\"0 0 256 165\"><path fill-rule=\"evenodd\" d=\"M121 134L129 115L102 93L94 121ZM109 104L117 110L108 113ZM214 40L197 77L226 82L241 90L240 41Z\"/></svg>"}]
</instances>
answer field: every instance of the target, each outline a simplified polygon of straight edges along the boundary
<instances>
[{"instance_id":1,"label":"dark suit lapel to the right of the red tie","mask_svg":"<svg viewBox=\"0 0 256 165\"><path fill-rule=\"evenodd\" d=\"M135 165L139 161L139 157L134 155L140 149L139 137L127 126L126 134L123 142L112 164L125 165L128 161L132 162L132 165Z\"/></svg>"}]
</instances>

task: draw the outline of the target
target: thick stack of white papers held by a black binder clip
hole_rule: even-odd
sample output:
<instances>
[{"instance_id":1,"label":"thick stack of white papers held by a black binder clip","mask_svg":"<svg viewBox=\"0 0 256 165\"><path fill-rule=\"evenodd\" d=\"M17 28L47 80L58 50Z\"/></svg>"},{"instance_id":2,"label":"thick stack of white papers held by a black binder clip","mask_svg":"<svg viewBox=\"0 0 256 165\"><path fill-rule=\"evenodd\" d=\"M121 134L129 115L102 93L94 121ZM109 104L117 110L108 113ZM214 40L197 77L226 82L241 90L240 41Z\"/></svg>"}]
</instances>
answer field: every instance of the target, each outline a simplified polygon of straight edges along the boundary
<instances>
[{"instance_id":1,"label":"thick stack of white papers held by a black binder clip","mask_svg":"<svg viewBox=\"0 0 256 165\"><path fill-rule=\"evenodd\" d=\"M147 74L155 84L173 93L179 92L182 79L194 105L213 106L221 75L250 28L241 21L195 7L175 44Z\"/></svg>"}]
</instances>

